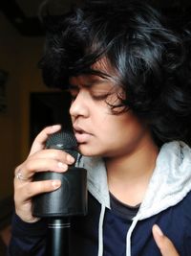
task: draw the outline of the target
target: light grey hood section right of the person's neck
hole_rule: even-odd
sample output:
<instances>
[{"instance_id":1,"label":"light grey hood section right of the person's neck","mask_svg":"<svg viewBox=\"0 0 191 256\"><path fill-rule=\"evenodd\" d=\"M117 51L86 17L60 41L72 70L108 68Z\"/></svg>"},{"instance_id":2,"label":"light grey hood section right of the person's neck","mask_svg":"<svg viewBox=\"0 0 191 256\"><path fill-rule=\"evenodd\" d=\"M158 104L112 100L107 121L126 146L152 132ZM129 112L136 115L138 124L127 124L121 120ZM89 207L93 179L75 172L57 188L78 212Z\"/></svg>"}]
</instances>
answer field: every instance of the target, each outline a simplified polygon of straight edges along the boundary
<instances>
[{"instance_id":1,"label":"light grey hood section right of the person's neck","mask_svg":"<svg viewBox=\"0 0 191 256\"><path fill-rule=\"evenodd\" d=\"M183 142L164 144L139 209L139 220L180 202L191 190L191 149Z\"/></svg>"}]
</instances>

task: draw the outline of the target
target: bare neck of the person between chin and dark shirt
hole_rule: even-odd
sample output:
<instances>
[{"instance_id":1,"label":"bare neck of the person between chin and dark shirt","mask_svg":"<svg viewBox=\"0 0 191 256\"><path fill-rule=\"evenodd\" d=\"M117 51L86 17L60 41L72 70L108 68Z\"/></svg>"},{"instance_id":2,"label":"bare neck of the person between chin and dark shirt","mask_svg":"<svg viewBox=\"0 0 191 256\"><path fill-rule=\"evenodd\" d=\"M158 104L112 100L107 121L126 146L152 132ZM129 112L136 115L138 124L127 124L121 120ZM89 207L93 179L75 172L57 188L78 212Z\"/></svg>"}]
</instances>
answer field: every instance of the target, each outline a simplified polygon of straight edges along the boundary
<instances>
[{"instance_id":1,"label":"bare neck of the person between chin and dark shirt","mask_svg":"<svg viewBox=\"0 0 191 256\"><path fill-rule=\"evenodd\" d=\"M110 192L129 205L137 205L144 198L159 153L152 139L140 143L136 151L106 158Z\"/></svg>"}]
</instances>

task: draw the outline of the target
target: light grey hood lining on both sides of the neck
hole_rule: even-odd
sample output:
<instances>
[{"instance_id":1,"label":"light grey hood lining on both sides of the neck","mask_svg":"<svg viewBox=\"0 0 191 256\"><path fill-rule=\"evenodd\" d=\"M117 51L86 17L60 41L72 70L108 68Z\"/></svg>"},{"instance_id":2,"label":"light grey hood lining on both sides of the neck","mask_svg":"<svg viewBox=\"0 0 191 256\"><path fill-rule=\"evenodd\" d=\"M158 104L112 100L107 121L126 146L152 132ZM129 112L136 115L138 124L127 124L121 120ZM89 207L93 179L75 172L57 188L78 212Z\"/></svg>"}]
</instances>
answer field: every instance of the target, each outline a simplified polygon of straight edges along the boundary
<instances>
[{"instance_id":1,"label":"light grey hood lining on both sides of the neck","mask_svg":"<svg viewBox=\"0 0 191 256\"><path fill-rule=\"evenodd\" d=\"M102 158L83 156L79 165L88 171L90 193L100 204L110 208L107 172ZM190 190L191 149L181 141L165 143L138 211L139 220L177 204Z\"/></svg>"}]
</instances>

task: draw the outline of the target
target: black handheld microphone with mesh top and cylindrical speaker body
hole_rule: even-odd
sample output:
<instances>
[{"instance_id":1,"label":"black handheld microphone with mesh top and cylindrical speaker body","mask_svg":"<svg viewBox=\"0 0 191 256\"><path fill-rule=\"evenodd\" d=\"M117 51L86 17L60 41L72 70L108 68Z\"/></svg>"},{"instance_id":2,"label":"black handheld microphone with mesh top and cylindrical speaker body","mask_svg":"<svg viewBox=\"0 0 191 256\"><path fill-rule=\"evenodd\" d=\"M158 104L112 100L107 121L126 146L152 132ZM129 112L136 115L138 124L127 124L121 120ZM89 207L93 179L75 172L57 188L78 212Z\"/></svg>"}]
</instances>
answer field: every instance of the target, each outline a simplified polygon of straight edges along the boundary
<instances>
[{"instance_id":1,"label":"black handheld microphone with mesh top and cylindrical speaker body","mask_svg":"<svg viewBox=\"0 0 191 256\"><path fill-rule=\"evenodd\" d=\"M76 161L77 142L71 131L53 133L47 140L46 148L67 151ZM70 217L87 214L87 171L72 165L65 173L36 173L33 181L47 179L60 179L62 185L56 191L35 196L32 214L35 217L48 218L46 255L68 256Z\"/></svg>"}]
</instances>

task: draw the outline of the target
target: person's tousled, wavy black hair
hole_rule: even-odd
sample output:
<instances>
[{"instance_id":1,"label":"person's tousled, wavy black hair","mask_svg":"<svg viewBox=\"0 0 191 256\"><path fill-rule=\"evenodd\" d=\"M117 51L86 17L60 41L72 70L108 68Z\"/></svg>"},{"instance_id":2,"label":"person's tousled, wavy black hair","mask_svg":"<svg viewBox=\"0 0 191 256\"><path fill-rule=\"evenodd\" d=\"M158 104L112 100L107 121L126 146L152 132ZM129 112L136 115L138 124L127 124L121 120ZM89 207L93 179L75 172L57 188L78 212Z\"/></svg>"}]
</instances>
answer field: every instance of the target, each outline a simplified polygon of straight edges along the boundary
<instances>
[{"instance_id":1,"label":"person's tousled, wavy black hair","mask_svg":"<svg viewBox=\"0 0 191 256\"><path fill-rule=\"evenodd\" d=\"M49 86L66 88L106 57L125 92L121 104L151 130L160 146L190 143L190 33L175 32L143 1L92 0L67 14L45 18L45 53L40 61Z\"/></svg>"}]
</instances>

